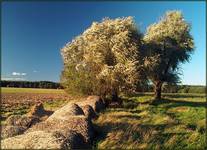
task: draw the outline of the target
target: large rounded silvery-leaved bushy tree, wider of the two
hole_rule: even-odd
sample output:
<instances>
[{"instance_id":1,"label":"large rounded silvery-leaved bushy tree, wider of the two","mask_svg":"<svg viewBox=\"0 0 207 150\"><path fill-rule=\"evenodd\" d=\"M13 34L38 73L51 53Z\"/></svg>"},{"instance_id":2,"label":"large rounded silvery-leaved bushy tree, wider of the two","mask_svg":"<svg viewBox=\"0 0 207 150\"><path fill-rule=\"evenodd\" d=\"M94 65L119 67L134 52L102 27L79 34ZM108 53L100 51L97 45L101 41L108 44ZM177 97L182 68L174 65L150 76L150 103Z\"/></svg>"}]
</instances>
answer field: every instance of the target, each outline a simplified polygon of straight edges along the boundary
<instances>
[{"instance_id":1,"label":"large rounded silvery-leaved bushy tree, wider of the two","mask_svg":"<svg viewBox=\"0 0 207 150\"><path fill-rule=\"evenodd\" d=\"M140 81L142 34L132 17L94 22L62 48L62 83L85 94L133 91Z\"/></svg>"}]
</instances>

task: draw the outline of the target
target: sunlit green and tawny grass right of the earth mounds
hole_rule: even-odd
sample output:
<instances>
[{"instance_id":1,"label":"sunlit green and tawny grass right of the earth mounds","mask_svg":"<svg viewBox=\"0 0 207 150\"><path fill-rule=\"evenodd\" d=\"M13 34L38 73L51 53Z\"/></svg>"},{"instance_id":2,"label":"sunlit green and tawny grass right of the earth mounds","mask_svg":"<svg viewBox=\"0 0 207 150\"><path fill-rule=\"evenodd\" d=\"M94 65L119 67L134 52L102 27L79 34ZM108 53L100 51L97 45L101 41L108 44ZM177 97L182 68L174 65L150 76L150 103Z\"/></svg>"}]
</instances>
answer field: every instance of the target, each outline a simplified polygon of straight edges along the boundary
<instances>
[{"instance_id":1,"label":"sunlit green and tawny grass right of the earth mounds","mask_svg":"<svg viewBox=\"0 0 207 150\"><path fill-rule=\"evenodd\" d=\"M165 94L124 97L121 108L108 108L94 121L98 149L205 149L205 96ZM130 103L129 106L127 103Z\"/></svg>"}]
</instances>

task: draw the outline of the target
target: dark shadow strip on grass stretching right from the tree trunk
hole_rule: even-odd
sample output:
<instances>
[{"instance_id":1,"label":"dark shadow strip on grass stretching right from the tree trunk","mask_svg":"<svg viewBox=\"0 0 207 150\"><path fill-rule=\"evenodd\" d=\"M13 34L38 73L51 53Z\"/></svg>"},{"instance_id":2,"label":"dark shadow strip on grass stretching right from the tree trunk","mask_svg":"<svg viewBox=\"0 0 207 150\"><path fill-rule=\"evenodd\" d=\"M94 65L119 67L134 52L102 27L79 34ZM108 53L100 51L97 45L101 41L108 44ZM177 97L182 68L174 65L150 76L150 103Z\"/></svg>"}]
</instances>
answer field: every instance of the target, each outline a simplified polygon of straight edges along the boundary
<instances>
[{"instance_id":1,"label":"dark shadow strip on grass stretching right from the tree trunk","mask_svg":"<svg viewBox=\"0 0 207 150\"><path fill-rule=\"evenodd\" d=\"M153 101L151 104L158 106L161 104L169 104L171 105L167 107L178 107L178 106L190 106L190 107L206 107L207 103L206 102L190 102L190 101L184 101L184 100L170 100L170 99L161 99L157 101Z\"/></svg>"}]
</instances>

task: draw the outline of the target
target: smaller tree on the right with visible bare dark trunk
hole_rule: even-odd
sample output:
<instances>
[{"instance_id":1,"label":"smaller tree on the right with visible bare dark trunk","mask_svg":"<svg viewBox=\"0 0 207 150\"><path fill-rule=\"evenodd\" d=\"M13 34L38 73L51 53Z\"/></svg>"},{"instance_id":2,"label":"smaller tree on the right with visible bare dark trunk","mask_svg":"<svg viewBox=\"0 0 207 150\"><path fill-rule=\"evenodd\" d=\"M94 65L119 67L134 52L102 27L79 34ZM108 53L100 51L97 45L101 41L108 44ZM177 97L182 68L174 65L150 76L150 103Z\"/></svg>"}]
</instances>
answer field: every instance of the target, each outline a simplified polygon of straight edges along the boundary
<instances>
[{"instance_id":1,"label":"smaller tree on the right with visible bare dark trunk","mask_svg":"<svg viewBox=\"0 0 207 150\"><path fill-rule=\"evenodd\" d=\"M144 35L144 66L158 99L163 82L179 82L180 64L190 59L194 49L190 29L180 11L169 11L158 23L150 25Z\"/></svg>"}]
</instances>

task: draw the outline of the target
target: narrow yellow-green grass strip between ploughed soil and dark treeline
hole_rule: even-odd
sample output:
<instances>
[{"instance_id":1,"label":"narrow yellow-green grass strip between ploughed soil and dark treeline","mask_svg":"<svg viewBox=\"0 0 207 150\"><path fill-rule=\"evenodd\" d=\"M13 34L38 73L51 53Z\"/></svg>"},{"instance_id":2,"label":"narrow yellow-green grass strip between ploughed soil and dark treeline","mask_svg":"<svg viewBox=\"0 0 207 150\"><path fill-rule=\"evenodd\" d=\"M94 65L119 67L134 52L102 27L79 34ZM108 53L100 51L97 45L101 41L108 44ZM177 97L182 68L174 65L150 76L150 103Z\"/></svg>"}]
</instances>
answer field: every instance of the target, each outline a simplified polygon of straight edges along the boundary
<instances>
[{"instance_id":1,"label":"narrow yellow-green grass strip between ploughed soil and dark treeline","mask_svg":"<svg viewBox=\"0 0 207 150\"><path fill-rule=\"evenodd\" d=\"M2 93L64 93L62 89L39 89L39 88L1 88Z\"/></svg>"}]
</instances>

